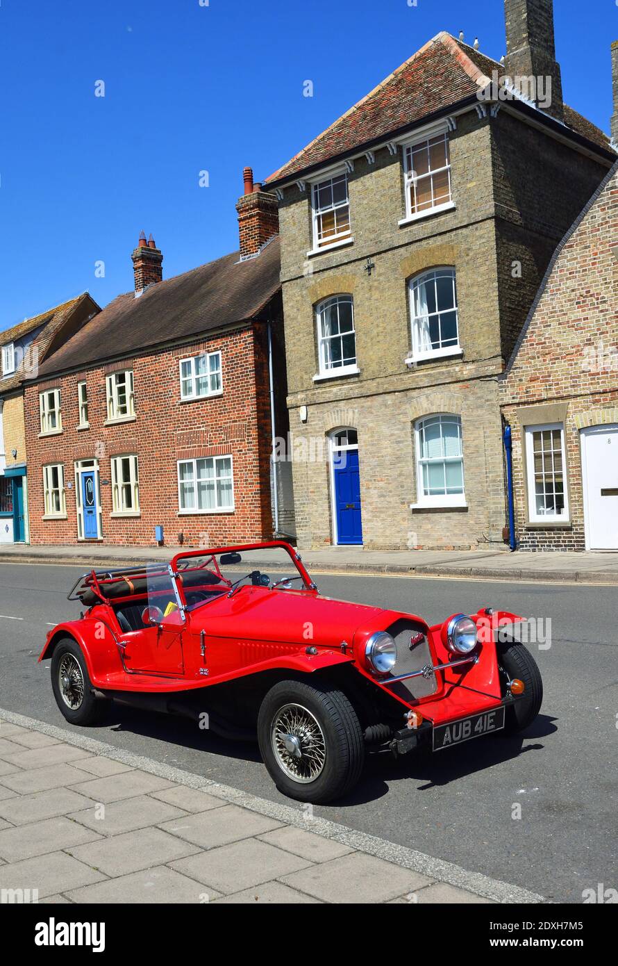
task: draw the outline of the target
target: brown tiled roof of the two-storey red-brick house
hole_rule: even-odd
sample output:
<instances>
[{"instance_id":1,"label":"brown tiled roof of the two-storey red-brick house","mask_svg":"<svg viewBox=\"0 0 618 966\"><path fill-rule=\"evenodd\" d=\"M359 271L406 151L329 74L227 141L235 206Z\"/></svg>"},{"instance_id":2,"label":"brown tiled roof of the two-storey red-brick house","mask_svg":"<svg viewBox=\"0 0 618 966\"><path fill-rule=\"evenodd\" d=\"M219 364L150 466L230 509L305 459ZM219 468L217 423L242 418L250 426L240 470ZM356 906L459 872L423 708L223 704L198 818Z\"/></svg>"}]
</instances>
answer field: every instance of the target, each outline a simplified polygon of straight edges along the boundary
<instances>
[{"instance_id":1,"label":"brown tiled roof of the two-storey red-brick house","mask_svg":"<svg viewBox=\"0 0 618 966\"><path fill-rule=\"evenodd\" d=\"M279 239L257 258L233 252L156 282L142 296L114 298L39 369L39 377L136 355L155 346L255 318L279 291Z\"/></svg>"}]
</instances>

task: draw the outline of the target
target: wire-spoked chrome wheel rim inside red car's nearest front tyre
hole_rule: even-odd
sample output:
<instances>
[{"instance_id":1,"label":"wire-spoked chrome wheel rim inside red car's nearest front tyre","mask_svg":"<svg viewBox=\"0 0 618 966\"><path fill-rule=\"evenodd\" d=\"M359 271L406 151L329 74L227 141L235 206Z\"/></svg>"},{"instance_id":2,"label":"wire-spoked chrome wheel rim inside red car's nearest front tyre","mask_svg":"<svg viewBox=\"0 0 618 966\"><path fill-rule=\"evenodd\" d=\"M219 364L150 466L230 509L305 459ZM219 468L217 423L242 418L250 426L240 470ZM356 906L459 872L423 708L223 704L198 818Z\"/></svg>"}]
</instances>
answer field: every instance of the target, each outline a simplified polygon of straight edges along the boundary
<instances>
[{"instance_id":1,"label":"wire-spoked chrome wheel rim inside red car's nearest front tyre","mask_svg":"<svg viewBox=\"0 0 618 966\"><path fill-rule=\"evenodd\" d=\"M300 704L286 704L275 715L270 729L272 751L285 774L307 784L322 774L326 743L318 720Z\"/></svg>"}]
</instances>

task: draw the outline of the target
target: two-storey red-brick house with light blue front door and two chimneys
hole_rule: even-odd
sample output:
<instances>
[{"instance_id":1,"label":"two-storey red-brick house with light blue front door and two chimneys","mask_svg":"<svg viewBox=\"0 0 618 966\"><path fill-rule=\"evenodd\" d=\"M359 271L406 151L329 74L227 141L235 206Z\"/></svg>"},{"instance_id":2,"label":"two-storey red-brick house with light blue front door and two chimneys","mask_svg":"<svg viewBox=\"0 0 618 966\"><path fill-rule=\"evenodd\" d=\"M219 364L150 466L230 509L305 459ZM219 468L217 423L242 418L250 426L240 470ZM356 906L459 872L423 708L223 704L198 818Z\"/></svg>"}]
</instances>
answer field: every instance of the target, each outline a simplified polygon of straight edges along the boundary
<instances>
[{"instance_id":1,"label":"two-storey red-brick house with light blue front door and two chimneys","mask_svg":"<svg viewBox=\"0 0 618 966\"><path fill-rule=\"evenodd\" d=\"M276 205L245 171L240 251L162 279L142 233L115 298L25 388L32 543L216 545L290 531ZM276 482L276 481L275 481ZM281 481L279 481L281 488ZM273 522L273 504L277 519Z\"/></svg>"}]
</instances>

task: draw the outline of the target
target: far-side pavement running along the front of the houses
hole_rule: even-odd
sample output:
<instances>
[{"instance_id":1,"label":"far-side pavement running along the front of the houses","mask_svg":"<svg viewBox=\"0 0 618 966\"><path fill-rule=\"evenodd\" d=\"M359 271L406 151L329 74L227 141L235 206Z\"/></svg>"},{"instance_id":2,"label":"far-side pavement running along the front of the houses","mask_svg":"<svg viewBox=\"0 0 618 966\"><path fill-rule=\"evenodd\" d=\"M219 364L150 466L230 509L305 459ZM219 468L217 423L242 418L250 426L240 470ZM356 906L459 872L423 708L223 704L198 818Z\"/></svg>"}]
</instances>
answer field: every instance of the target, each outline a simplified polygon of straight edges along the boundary
<instances>
[{"instance_id":1,"label":"far-side pavement running along the front of the houses","mask_svg":"<svg viewBox=\"0 0 618 966\"><path fill-rule=\"evenodd\" d=\"M190 549L190 548L189 548ZM0 547L0 563L56 563L89 567L132 566L169 559L180 547L114 547L90 544ZM303 551L310 571L380 573L526 582L618 584L618 553L525 553L505 548L477 551L371 551L325 547Z\"/></svg>"}]
</instances>

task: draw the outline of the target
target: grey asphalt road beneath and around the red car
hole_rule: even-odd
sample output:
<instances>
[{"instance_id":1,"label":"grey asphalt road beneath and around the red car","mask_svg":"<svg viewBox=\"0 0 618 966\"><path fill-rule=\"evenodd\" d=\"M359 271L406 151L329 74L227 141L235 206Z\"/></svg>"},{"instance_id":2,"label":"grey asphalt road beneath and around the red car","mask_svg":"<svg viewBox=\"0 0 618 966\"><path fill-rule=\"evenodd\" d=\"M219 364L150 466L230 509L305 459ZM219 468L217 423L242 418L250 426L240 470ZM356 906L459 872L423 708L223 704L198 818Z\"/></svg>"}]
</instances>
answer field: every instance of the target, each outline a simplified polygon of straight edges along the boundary
<instances>
[{"instance_id":1,"label":"grey asphalt road beneath and around the red car","mask_svg":"<svg viewBox=\"0 0 618 966\"><path fill-rule=\"evenodd\" d=\"M53 700L49 662L36 663L48 625L77 612L66 594L80 569L0 565L0 707L70 728ZM351 798L317 812L558 901L618 888L618 593L613 587L511 585L321 575L333 597L415 611L430 622L492 605L546 620L534 647L542 714L517 738L368 763ZM192 723L113 705L94 737L274 801L257 747ZM520 806L521 817L517 815Z\"/></svg>"}]
</instances>

